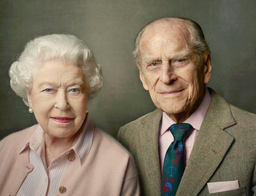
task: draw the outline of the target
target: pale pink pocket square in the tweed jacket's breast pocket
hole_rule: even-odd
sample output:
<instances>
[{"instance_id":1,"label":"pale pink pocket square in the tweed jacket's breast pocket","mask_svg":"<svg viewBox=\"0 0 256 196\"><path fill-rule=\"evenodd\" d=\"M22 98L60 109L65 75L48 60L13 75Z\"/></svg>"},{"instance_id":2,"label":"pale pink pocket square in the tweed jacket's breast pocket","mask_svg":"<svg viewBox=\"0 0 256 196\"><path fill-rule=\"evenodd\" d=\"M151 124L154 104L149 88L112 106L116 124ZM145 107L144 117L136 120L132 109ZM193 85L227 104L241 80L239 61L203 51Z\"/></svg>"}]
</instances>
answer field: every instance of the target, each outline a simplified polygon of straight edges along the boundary
<instances>
[{"instance_id":1,"label":"pale pink pocket square in the tweed jacket's breast pocket","mask_svg":"<svg viewBox=\"0 0 256 196\"><path fill-rule=\"evenodd\" d=\"M209 193L217 193L222 191L230 191L239 188L238 180L225 182L209 182L207 183Z\"/></svg>"}]
</instances>

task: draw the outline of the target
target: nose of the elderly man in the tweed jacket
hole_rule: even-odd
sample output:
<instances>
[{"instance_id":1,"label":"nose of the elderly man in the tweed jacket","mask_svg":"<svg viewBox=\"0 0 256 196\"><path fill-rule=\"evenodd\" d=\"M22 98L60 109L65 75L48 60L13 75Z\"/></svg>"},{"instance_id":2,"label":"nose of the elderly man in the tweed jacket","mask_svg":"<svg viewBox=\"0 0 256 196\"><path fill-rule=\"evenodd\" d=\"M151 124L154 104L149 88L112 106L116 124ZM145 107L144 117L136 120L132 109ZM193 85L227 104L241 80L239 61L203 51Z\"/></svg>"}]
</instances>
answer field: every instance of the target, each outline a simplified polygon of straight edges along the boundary
<instances>
[{"instance_id":1,"label":"nose of the elderly man in the tweed jacket","mask_svg":"<svg viewBox=\"0 0 256 196\"><path fill-rule=\"evenodd\" d=\"M177 80L177 75L174 73L174 68L169 62L165 62L162 64L160 80L164 84L170 84L173 80Z\"/></svg>"}]
</instances>

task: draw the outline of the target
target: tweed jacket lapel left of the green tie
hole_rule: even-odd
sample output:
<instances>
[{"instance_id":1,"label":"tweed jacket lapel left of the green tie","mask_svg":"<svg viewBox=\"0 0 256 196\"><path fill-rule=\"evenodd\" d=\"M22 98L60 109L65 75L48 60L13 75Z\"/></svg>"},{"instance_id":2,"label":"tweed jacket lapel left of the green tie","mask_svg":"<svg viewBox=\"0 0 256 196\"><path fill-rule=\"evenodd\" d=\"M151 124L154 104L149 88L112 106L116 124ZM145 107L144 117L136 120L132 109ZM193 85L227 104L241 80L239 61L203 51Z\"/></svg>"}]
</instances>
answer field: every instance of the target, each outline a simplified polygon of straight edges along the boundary
<instances>
[{"instance_id":1,"label":"tweed jacket lapel left of the green tie","mask_svg":"<svg viewBox=\"0 0 256 196\"><path fill-rule=\"evenodd\" d=\"M161 172L158 155L158 129L162 112L158 109L150 113L138 126L137 139L140 145L139 157L141 168L146 176L142 177L146 190L145 195L161 194ZM144 187L145 187L144 186Z\"/></svg>"}]
</instances>

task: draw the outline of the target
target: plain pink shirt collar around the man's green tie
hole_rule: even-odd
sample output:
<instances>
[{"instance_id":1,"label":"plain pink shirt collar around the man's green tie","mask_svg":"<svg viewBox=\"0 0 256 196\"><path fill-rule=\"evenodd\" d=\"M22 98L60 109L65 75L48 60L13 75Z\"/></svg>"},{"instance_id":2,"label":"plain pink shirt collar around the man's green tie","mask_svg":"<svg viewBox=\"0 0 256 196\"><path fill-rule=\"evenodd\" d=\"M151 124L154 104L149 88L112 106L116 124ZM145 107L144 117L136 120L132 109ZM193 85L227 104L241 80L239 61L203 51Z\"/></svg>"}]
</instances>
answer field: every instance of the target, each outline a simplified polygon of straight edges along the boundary
<instances>
[{"instance_id":1,"label":"plain pink shirt collar around the man's green tie","mask_svg":"<svg viewBox=\"0 0 256 196\"><path fill-rule=\"evenodd\" d=\"M206 110L210 104L210 100L211 95L208 89L206 88L203 101L183 123L189 123L191 124L191 126L193 126L194 129L199 130L203 122ZM173 124L175 124L175 122L170 117L168 117L165 112L163 112L160 134L163 135L168 130L168 128Z\"/></svg>"}]
</instances>

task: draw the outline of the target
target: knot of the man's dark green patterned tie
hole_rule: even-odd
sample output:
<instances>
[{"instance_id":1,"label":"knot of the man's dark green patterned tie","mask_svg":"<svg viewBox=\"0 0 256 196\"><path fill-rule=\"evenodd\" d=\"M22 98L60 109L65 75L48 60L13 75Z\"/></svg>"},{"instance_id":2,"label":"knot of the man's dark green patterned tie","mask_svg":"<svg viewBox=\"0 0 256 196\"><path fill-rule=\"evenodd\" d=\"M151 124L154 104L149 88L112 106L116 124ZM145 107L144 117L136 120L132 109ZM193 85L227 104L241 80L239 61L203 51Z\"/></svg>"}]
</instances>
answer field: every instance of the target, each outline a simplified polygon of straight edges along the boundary
<instances>
[{"instance_id":1,"label":"knot of the man's dark green patterned tie","mask_svg":"<svg viewBox=\"0 0 256 196\"><path fill-rule=\"evenodd\" d=\"M169 127L175 141L184 142L185 138L190 134L193 126L188 123L173 124Z\"/></svg>"}]
</instances>

